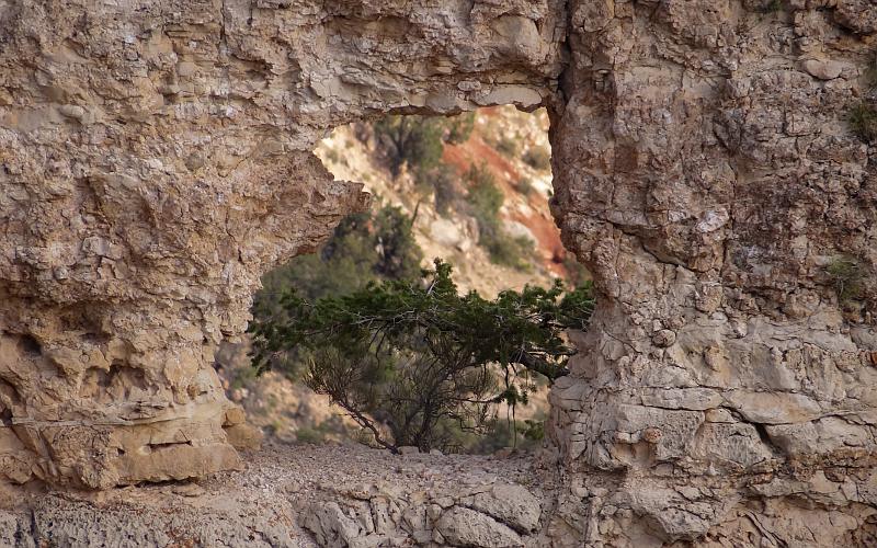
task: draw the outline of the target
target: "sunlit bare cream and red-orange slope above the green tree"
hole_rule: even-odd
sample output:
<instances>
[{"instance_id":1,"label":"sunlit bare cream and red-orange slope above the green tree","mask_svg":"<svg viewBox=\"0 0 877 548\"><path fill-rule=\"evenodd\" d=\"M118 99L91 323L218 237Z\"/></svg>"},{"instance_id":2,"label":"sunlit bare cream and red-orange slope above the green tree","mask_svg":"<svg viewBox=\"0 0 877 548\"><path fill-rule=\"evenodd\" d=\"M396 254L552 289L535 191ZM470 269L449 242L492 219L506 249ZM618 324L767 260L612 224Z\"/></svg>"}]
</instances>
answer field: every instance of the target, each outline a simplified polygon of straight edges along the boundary
<instances>
[{"instance_id":1,"label":"sunlit bare cream and red-orange slope above the green tree","mask_svg":"<svg viewBox=\"0 0 877 548\"><path fill-rule=\"evenodd\" d=\"M469 139L446 145L443 156L464 193L464 174L471 165L483 164L494 176L505 197L501 210L504 228L534 242L536 254L529 272L491 263L478 246L478 230L471 217L454 210L443 217L418 190L410 173L403 171L394 178L367 127L340 127L316 152L337 179L363 182L374 195L410 215L417 208L415 235L424 250L424 261L429 264L441 256L454 264L462 290L496 295L525 284L549 285L554 277L567 276L560 232L548 209L551 171L547 130L548 116L542 110L527 114L511 106L482 109L476 113ZM525 161L539 156L544 161L533 162L537 168Z\"/></svg>"}]
</instances>

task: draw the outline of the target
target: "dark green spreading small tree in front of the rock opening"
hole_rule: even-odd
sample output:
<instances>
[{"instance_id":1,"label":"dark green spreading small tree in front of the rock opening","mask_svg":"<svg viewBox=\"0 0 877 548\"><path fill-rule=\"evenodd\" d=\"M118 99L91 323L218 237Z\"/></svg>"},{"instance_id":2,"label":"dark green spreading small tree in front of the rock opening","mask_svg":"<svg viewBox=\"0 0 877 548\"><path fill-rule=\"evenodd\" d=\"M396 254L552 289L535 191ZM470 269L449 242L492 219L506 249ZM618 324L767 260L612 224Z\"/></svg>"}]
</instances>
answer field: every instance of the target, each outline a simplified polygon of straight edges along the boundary
<instances>
[{"instance_id":1,"label":"dark green spreading small tree in front of the rock opening","mask_svg":"<svg viewBox=\"0 0 877 548\"><path fill-rule=\"evenodd\" d=\"M460 296L438 260L419 281L385 281L316 301L295 290L282 313L257 319L257 366L296 353L306 383L328 395L378 445L396 450L453 446L455 433L481 432L493 406L526 403L532 375L566 374L574 351L565 329L584 329L586 289L525 287L494 300Z\"/></svg>"}]
</instances>

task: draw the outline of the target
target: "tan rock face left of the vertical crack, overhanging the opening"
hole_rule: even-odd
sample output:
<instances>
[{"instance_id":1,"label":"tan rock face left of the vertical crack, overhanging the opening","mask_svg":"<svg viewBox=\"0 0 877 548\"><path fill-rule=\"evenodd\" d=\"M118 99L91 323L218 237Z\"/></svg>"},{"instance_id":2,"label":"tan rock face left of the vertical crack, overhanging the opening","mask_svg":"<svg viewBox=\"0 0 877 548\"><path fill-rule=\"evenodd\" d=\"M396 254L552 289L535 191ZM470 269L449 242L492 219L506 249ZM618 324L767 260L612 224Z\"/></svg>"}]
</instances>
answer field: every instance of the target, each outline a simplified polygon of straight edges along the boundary
<instances>
[{"instance_id":1,"label":"tan rock face left of the vertical crack, overhanging the opening","mask_svg":"<svg viewBox=\"0 0 877 548\"><path fill-rule=\"evenodd\" d=\"M557 1L0 4L0 478L239 465L212 367L259 276L366 195L310 152L391 110L544 102Z\"/></svg>"}]
</instances>

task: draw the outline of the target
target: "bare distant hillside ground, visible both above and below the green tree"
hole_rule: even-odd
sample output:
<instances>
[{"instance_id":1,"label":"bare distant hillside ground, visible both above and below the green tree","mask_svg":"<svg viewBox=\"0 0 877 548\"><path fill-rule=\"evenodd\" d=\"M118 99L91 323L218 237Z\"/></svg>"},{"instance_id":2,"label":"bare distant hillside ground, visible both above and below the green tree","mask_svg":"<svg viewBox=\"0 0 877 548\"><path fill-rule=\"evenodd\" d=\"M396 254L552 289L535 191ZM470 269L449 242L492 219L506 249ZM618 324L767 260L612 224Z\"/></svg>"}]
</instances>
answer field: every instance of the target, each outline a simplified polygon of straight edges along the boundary
<instances>
[{"instance_id":1,"label":"bare distant hillside ground, visible both above and below the green tree","mask_svg":"<svg viewBox=\"0 0 877 548\"><path fill-rule=\"evenodd\" d=\"M558 276L578 274L567 271L560 233L548 208L551 170L547 129L544 111L527 114L510 106L478 111L468 139L444 147L442 169L451 174L458 195L458 207L448 207L444 215L436 210L431 191L419 185L415 174L405 165L394 176L386 150L371 125L337 128L316 153L335 179L364 183L375 196L373 207L378 203L395 205L414 216L413 232L424 251L423 266L442 258L454 265L462 292L476 289L492 297L502 289L520 289L526 284L549 286ZM478 222L465 206L470 190L467 173L472 167L489 172L502 193L502 229L512 238L531 240L533 251L525 258L525 269L496 264L479 246ZM251 423L270 436L287 441L355 438L355 424L327 398L276 373L255 378L246 352L246 344L227 345L218 362L229 397L243 404ZM534 395L528 406L516 410L516 419L544 419L546 396L545 390ZM500 413L511 416L505 409ZM494 443L502 446L501 441Z\"/></svg>"}]
</instances>

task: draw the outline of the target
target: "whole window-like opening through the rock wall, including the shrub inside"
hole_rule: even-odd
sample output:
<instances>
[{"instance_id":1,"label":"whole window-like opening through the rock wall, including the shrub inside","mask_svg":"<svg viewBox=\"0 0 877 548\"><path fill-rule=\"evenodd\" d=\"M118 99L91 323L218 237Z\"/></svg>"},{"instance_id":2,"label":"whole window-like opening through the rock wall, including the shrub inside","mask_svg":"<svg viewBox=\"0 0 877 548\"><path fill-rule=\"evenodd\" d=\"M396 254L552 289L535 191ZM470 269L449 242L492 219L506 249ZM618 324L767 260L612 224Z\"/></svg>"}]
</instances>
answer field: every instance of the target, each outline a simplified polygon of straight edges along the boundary
<instances>
[{"instance_id":1,"label":"whole window-like opening through the rock wall, including the shrub inside","mask_svg":"<svg viewBox=\"0 0 877 548\"><path fill-rule=\"evenodd\" d=\"M566 328L591 310L549 213L547 130L544 110L504 106L388 115L324 139L316 153L373 203L267 273L250 342L218 353L248 420L284 441L391 450L540 445Z\"/></svg>"}]
</instances>

